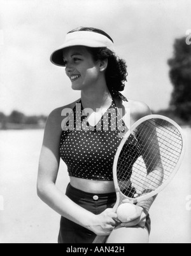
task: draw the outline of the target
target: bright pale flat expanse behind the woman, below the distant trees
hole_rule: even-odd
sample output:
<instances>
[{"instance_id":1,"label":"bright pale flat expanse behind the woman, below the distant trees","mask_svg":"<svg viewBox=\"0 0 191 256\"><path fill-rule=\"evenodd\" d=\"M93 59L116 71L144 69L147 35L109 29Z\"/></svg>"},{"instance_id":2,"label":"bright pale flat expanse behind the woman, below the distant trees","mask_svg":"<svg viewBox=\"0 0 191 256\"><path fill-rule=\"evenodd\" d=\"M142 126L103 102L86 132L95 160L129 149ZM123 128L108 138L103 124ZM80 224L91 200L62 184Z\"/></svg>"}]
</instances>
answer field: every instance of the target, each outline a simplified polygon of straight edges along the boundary
<instances>
[{"instance_id":1,"label":"bright pale flat expanse behind the woman, below the distant trees","mask_svg":"<svg viewBox=\"0 0 191 256\"><path fill-rule=\"evenodd\" d=\"M178 174L160 192L150 215L150 243L191 243L191 129L187 134L187 153ZM36 196L38 160L43 130L0 131L0 242L57 243L59 215ZM57 187L63 192L69 181L61 162Z\"/></svg>"}]
</instances>

